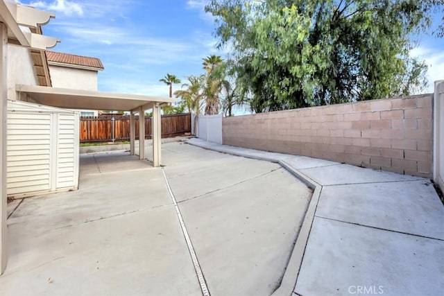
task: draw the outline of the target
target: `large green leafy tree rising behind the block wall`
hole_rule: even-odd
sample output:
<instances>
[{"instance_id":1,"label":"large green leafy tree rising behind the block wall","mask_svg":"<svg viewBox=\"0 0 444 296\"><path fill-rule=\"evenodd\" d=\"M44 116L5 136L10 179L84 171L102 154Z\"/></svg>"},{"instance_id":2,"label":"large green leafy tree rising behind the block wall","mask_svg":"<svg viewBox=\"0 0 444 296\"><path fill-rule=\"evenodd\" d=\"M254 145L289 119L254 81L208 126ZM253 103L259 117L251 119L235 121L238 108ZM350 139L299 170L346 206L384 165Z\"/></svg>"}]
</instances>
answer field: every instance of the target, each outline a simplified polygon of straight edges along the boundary
<instances>
[{"instance_id":1,"label":"large green leafy tree rising behind the block wall","mask_svg":"<svg viewBox=\"0 0 444 296\"><path fill-rule=\"evenodd\" d=\"M425 87L409 34L435 0L212 0L242 98L255 112L408 95ZM442 0L438 0L442 1Z\"/></svg>"}]
</instances>

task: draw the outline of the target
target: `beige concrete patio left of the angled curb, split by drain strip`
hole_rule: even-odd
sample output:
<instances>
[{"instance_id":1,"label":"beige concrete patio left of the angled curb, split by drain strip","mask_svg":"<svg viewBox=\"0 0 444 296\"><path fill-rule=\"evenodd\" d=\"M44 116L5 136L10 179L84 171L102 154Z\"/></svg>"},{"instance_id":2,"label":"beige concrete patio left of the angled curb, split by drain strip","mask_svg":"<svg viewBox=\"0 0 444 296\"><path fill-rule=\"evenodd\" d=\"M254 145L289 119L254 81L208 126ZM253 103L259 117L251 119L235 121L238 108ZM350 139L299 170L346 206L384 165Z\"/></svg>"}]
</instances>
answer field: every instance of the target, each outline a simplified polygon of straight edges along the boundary
<instances>
[{"instance_id":1,"label":"beige concrete patio left of the angled curb, split by drain strip","mask_svg":"<svg viewBox=\"0 0 444 296\"><path fill-rule=\"evenodd\" d=\"M0 295L201 295L162 169L211 295L273 293L311 189L271 162L177 142L162 154L164 168L83 155L78 191L8 204Z\"/></svg>"}]
</instances>

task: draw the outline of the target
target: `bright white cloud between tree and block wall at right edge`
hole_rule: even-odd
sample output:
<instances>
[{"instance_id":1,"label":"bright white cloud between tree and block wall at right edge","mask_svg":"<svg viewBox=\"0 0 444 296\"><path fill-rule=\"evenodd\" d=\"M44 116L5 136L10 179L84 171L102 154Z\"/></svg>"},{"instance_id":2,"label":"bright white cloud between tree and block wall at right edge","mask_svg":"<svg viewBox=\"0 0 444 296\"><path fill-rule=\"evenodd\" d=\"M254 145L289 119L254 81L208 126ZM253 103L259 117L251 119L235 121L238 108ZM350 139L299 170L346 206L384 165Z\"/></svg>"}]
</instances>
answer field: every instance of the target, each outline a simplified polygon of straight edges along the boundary
<instances>
[{"instance_id":1,"label":"bright white cloud between tree and block wall at right edge","mask_svg":"<svg viewBox=\"0 0 444 296\"><path fill-rule=\"evenodd\" d=\"M429 85L426 92L434 92L434 82L436 80L444 79L444 52L420 46L411 50L410 55L425 60L425 63L429 67L427 70L427 80L429 81Z\"/></svg>"}]
</instances>

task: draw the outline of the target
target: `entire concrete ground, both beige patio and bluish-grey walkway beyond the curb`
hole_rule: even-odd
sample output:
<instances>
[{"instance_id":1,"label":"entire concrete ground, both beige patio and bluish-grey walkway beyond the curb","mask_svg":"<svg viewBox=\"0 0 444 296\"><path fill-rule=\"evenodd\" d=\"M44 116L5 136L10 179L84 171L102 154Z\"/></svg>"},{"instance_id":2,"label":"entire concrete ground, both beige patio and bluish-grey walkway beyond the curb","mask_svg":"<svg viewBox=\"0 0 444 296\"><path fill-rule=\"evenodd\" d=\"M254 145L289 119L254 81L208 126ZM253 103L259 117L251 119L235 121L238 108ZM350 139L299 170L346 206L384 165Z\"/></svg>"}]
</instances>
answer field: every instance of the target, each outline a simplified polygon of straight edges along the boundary
<instances>
[{"instance_id":1,"label":"entire concrete ground, both beige patio and bluish-grey walkway beyond the curb","mask_svg":"<svg viewBox=\"0 0 444 296\"><path fill-rule=\"evenodd\" d=\"M167 182L211 295L444 289L444 207L429 180L187 142L162 146L164 168L83 155L78 191L8 204L0 295L202 295Z\"/></svg>"}]
</instances>

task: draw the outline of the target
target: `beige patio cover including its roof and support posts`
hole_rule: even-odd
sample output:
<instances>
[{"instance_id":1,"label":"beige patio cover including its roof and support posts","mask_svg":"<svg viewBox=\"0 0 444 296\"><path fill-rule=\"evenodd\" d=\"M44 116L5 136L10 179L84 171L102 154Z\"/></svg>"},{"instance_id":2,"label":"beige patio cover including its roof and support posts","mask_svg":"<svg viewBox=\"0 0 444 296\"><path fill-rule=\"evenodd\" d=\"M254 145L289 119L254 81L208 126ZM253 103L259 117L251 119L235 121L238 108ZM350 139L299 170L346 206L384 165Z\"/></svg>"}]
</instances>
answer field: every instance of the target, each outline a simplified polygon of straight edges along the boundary
<instances>
[{"instance_id":1,"label":"beige patio cover including its roof and support posts","mask_svg":"<svg viewBox=\"0 0 444 296\"><path fill-rule=\"evenodd\" d=\"M139 139L144 139L145 110L153 109L153 166L160 166L161 120L160 107L176 101L174 98L142 96L137 94L114 94L84 89L65 89L38 85L15 85L21 101L30 101L64 109L114 110L130 112L130 153L135 154L135 120L139 113ZM144 159L144 141L139 141L139 158Z\"/></svg>"}]
</instances>

